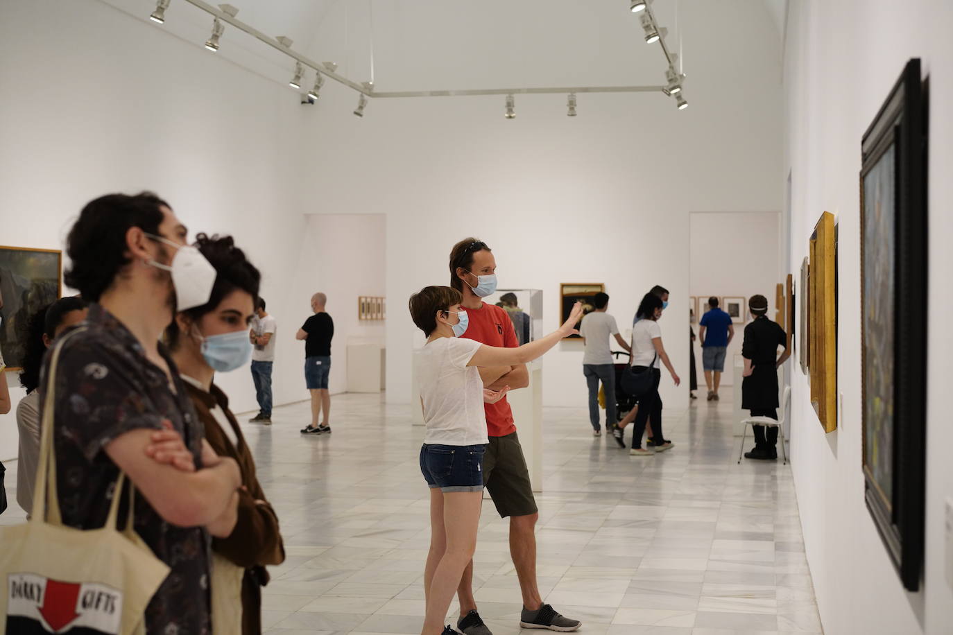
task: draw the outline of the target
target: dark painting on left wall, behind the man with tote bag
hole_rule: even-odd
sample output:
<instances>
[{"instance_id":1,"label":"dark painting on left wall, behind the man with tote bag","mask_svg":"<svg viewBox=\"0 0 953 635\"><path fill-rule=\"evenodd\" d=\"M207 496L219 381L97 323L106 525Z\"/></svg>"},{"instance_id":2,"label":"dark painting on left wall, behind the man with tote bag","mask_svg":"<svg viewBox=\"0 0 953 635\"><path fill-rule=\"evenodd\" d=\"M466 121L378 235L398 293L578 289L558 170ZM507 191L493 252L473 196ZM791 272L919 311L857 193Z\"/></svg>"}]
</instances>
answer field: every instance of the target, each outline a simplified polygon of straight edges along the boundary
<instances>
[{"instance_id":1,"label":"dark painting on left wall, behind the man with tote bag","mask_svg":"<svg viewBox=\"0 0 953 635\"><path fill-rule=\"evenodd\" d=\"M62 260L54 249L0 247L0 350L8 370L23 364L19 334L30 315L60 297Z\"/></svg>"}]
</instances>

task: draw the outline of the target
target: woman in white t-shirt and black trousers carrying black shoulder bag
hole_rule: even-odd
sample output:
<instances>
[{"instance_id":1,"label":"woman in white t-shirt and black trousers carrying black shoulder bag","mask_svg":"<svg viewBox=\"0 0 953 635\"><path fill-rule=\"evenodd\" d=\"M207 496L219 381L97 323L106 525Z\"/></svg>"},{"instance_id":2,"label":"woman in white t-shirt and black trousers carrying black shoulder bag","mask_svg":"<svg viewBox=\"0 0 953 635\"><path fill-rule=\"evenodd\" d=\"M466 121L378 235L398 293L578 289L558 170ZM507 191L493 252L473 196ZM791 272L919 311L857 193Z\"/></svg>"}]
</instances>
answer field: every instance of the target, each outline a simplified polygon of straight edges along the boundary
<instances>
[{"instance_id":1,"label":"woman in white t-shirt and black trousers carrying black shoulder bag","mask_svg":"<svg viewBox=\"0 0 953 635\"><path fill-rule=\"evenodd\" d=\"M681 380L679 380L679 375L672 367L672 363L668 359L668 353L665 352L665 347L661 343L661 328L659 327L661 311L661 298L652 293L646 293L639 304L639 312L636 313L639 321L632 327L632 367L639 371L647 370L651 372L652 387L639 397L639 406L626 415L622 421L618 422L618 426L613 429L612 434L616 438L616 443L625 447L625 441L622 439L623 430L635 419L636 429L632 435L632 449L629 450L629 454L633 456L651 455L672 446L670 442L664 440L665 437L661 431L661 397L659 396L661 370L659 362L664 364L668 371L672 373L672 380L676 386L679 386ZM645 433L645 424L649 417L652 418L656 442L649 444L647 449L642 449L642 435Z\"/></svg>"}]
</instances>

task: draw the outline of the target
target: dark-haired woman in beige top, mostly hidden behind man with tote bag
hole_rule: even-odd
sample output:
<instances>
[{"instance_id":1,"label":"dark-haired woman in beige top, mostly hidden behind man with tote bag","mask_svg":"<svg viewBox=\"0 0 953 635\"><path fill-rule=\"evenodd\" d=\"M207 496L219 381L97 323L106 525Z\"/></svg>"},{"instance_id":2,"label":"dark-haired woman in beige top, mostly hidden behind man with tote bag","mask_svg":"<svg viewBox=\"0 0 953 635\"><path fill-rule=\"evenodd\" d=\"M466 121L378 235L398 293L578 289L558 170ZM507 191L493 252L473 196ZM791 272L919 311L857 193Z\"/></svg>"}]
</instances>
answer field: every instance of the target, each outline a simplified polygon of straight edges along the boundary
<instances>
[{"instance_id":1,"label":"dark-haired woman in beige top, mostly hidden behind man with tote bag","mask_svg":"<svg viewBox=\"0 0 953 635\"><path fill-rule=\"evenodd\" d=\"M87 305L82 299L60 298L33 313L26 329L20 333L20 345L24 351L20 385L27 389L27 396L16 407L16 427L20 436L16 502L28 517L33 507L33 483L40 459L40 393L36 388L40 385L43 355L60 333L85 320L86 313Z\"/></svg>"}]
</instances>

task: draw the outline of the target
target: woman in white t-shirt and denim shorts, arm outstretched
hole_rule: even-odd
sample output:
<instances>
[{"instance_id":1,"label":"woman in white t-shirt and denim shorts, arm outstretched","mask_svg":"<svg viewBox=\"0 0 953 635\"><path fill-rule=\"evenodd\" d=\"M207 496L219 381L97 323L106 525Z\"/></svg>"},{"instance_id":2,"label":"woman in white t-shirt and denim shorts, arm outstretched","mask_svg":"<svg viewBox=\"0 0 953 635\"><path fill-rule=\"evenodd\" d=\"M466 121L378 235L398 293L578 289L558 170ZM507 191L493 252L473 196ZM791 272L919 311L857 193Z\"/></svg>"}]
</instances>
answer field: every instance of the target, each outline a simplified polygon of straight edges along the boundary
<instances>
[{"instance_id":1,"label":"woman in white t-shirt and denim shorts, arm outstretched","mask_svg":"<svg viewBox=\"0 0 953 635\"><path fill-rule=\"evenodd\" d=\"M420 404L427 426L420 448L420 471L430 486L431 538L424 568L426 617L422 635L456 633L443 618L456 593L463 569L476 549L483 499L483 452L487 443L483 404L503 398L483 388L477 367L526 364L575 334L582 316L577 303L557 331L521 347L488 347L460 339L467 313L460 292L426 287L411 296L414 324L427 336L418 367Z\"/></svg>"}]
</instances>

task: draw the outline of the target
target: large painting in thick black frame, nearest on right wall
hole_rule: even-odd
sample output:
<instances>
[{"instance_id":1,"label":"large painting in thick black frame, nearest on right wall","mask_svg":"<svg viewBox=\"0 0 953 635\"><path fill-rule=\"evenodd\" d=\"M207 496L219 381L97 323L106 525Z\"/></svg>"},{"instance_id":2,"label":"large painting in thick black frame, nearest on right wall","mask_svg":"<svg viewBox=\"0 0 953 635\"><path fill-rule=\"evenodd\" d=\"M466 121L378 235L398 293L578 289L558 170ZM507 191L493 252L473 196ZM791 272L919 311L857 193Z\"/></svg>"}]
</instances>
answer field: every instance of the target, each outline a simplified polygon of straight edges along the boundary
<instances>
[{"instance_id":1,"label":"large painting in thick black frame, nearest on right wall","mask_svg":"<svg viewBox=\"0 0 953 635\"><path fill-rule=\"evenodd\" d=\"M867 508L920 588L926 445L926 99L910 60L863 135L862 462ZM937 556L939 557L939 556Z\"/></svg>"}]
</instances>

